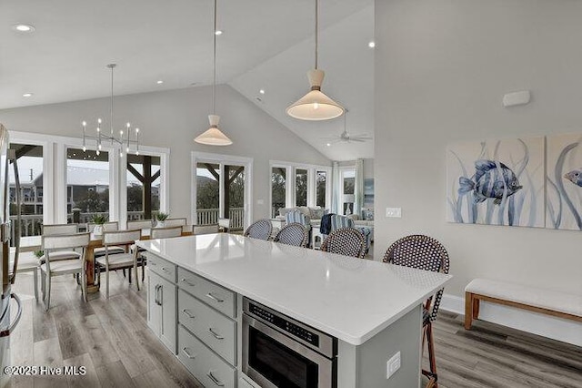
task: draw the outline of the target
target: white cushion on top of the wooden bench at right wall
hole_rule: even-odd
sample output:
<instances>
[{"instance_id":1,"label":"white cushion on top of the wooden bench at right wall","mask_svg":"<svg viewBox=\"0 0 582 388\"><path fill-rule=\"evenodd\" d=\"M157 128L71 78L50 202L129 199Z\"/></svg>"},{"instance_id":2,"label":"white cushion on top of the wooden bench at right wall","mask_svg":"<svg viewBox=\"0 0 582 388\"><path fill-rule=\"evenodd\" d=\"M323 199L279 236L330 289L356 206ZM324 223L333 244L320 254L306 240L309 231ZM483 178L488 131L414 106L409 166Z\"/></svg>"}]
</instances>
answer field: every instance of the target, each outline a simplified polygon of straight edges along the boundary
<instances>
[{"instance_id":1,"label":"white cushion on top of the wooden bench at right wall","mask_svg":"<svg viewBox=\"0 0 582 388\"><path fill-rule=\"evenodd\" d=\"M488 279L471 281L465 291L582 317L582 295Z\"/></svg>"}]
</instances>

